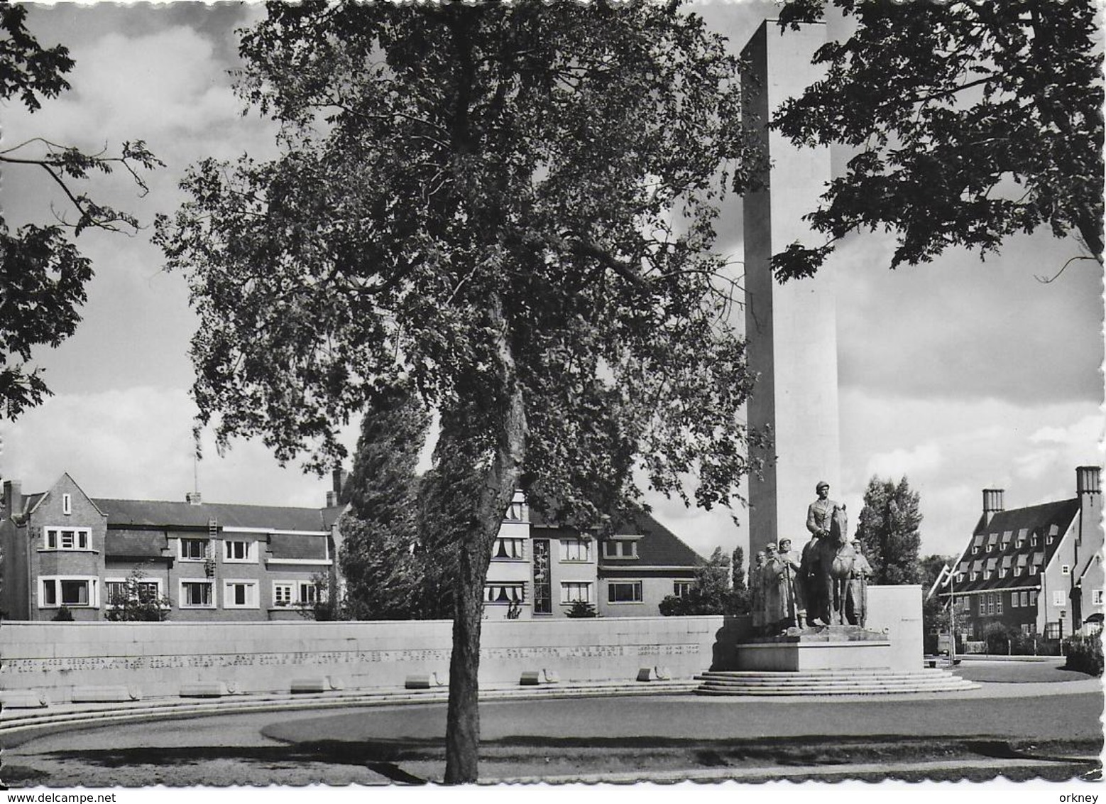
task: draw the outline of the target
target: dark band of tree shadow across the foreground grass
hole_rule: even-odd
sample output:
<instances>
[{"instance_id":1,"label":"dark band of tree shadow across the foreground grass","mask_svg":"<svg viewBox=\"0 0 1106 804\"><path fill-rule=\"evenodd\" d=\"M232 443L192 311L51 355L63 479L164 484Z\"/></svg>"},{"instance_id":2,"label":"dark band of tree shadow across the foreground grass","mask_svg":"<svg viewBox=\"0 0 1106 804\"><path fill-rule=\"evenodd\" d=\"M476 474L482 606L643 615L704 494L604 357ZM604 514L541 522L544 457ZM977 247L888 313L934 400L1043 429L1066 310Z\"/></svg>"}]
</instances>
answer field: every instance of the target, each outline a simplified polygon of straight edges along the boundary
<instances>
[{"instance_id":1,"label":"dark band of tree shadow across the foreground grass","mask_svg":"<svg viewBox=\"0 0 1106 804\"><path fill-rule=\"evenodd\" d=\"M873 762L1036 760L1084 766L1097 765L1102 740L1066 740L1050 743L1002 739L938 740L904 734L873 734L863 739L828 739L824 735L741 740L682 740L669 738L549 738L513 737L481 743L486 766L530 764L549 758L572 762L582 773L588 768L618 765L647 771L678 763L687 769L742 766L847 766ZM212 760L232 760L259 769L295 768L307 763L367 768L399 784L425 784L403 765L445 762L440 738L399 740L322 740L265 746L124 748L52 752L54 759L103 768L135 765L199 765ZM598 764L596 764L598 763ZM491 775L494 775L493 773ZM535 773L534 775L540 775Z\"/></svg>"}]
</instances>

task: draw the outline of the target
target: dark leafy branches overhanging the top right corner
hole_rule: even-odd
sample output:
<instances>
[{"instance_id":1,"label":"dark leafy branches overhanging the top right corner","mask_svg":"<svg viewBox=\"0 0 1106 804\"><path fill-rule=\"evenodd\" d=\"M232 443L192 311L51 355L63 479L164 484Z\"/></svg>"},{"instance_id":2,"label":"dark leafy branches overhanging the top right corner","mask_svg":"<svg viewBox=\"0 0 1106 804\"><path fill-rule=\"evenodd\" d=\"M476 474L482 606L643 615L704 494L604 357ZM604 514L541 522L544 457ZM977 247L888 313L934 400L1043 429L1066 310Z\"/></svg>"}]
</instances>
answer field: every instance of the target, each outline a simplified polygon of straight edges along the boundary
<instances>
[{"instance_id":1,"label":"dark leafy branches overhanging the top right corner","mask_svg":"<svg viewBox=\"0 0 1106 804\"><path fill-rule=\"evenodd\" d=\"M817 51L826 77L773 125L856 154L810 216L826 241L774 255L778 276L811 275L845 234L884 228L897 236L891 268L951 246L984 254L1039 227L1076 236L1086 253L1072 259L1102 263L1097 3L832 2L855 31ZM780 24L821 19L825 6L787 3Z\"/></svg>"}]
</instances>

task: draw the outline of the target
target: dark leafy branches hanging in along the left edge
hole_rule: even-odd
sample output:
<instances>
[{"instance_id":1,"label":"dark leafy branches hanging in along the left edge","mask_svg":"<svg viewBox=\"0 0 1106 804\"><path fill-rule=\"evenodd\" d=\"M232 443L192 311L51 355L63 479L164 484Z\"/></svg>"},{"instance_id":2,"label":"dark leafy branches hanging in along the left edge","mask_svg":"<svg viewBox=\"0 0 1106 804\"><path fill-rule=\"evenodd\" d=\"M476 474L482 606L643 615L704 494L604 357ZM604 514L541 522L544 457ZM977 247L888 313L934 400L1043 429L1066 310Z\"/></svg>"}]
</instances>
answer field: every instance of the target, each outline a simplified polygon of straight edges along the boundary
<instances>
[{"instance_id":1,"label":"dark leafy branches hanging in along the left edge","mask_svg":"<svg viewBox=\"0 0 1106 804\"><path fill-rule=\"evenodd\" d=\"M43 48L28 31L27 9L0 2L0 101L12 98L30 112L69 88L65 74L73 60L63 45ZM50 394L42 368L31 365L32 351L56 347L76 331L92 262L66 234L86 229L137 230L137 219L93 200L80 189L93 174L122 168L143 195L139 170L161 163L140 140L123 143L118 155L90 154L43 137L8 143L0 149L0 167L41 170L56 184L69 203L54 210L50 226L29 223L11 231L0 216L0 418L14 419Z\"/></svg>"}]
</instances>

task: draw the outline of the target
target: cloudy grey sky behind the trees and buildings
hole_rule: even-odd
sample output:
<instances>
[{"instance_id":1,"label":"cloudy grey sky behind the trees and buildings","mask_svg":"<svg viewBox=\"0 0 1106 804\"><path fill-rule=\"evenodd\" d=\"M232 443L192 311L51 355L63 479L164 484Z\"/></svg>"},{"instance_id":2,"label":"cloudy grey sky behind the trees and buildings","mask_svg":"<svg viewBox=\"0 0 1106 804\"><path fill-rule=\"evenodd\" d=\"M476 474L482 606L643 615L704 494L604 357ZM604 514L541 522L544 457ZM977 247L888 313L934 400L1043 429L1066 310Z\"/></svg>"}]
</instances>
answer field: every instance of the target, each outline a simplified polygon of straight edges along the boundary
<instances>
[{"instance_id":1,"label":"cloudy grey sky behind the trees and buildings","mask_svg":"<svg viewBox=\"0 0 1106 804\"><path fill-rule=\"evenodd\" d=\"M148 196L136 197L123 177L88 190L147 223L176 208L177 184L197 159L273 154L271 128L241 114L228 74L234 29L257 7L32 8L39 41L64 43L76 60L73 88L33 115L2 108L4 147L34 136L92 150L145 139L166 163L149 176ZM703 13L737 51L772 9L713 4ZM51 205L64 208L33 169L4 173L0 205L9 226L48 222ZM730 210L727 220L720 247L739 254L740 216ZM195 473L206 500L321 504L327 482L280 468L260 443L236 442L220 458L206 434L194 466L187 349L196 320L184 278L161 270L149 234L79 238L96 270L84 321L60 348L36 355L55 395L14 424L0 421L0 477L35 491L69 471L94 497L176 500ZM1077 261L1051 284L1036 276L1076 253L1073 241L1042 233L985 262L953 252L893 272L883 238L845 246L836 278L843 488L834 497L858 511L869 478L906 474L921 493L922 551L951 553L979 516L983 488L1005 489L1008 507L1074 495L1075 467L1100 462L1102 275ZM348 446L355 437L347 432ZM724 515L655 505L701 553L748 539Z\"/></svg>"}]
</instances>

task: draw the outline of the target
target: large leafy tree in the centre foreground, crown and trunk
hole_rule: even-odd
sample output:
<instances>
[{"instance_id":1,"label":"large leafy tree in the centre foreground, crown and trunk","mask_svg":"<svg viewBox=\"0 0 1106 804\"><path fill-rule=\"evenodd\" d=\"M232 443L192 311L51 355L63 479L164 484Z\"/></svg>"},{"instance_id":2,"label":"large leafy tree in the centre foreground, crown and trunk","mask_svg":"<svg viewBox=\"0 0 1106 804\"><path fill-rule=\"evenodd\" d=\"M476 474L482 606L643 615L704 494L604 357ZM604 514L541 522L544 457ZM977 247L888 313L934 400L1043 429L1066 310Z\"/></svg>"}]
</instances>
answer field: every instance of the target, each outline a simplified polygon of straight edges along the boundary
<instances>
[{"instance_id":1,"label":"large leafy tree in the centre foreground, crown and trunk","mask_svg":"<svg viewBox=\"0 0 1106 804\"><path fill-rule=\"evenodd\" d=\"M602 526L750 470L751 388L713 249L750 148L740 73L678 3L274 3L240 90L272 161L204 161L157 234L187 272L201 422L315 469L413 384L440 415L457 551L446 780L477 777L483 585L517 488Z\"/></svg>"}]
</instances>

